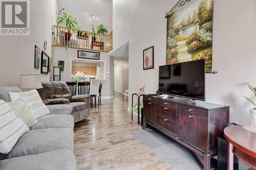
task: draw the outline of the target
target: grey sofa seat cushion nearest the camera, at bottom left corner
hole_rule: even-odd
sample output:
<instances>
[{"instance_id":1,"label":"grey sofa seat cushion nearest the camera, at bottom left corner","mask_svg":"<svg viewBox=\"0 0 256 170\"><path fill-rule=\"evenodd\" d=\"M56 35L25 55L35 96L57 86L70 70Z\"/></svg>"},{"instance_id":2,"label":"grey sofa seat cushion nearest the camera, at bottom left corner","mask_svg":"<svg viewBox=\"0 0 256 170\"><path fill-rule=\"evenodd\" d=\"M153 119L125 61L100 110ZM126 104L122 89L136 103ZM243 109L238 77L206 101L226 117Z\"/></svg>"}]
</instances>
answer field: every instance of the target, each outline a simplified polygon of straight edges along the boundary
<instances>
[{"instance_id":1,"label":"grey sofa seat cushion nearest the camera, at bottom left corner","mask_svg":"<svg viewBox=\"0 0 256 170\"><path fill-rule=\"evenodd\" d=\"M0 169L5 170L76 170L73 151L53 150L37 155L21 156L0 161Z\"/></svg>"}]
</instances>

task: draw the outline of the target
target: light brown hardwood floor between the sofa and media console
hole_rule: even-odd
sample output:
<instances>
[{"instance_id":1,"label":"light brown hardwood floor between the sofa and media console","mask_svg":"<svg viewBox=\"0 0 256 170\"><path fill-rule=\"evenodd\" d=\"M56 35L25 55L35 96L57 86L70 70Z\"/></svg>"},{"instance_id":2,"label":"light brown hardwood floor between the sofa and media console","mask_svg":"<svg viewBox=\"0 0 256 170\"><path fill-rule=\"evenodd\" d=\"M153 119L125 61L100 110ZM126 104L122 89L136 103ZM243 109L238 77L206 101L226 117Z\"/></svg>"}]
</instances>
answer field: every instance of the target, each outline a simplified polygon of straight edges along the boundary
<instances>
[{"instance_id":1,"label":"light brown hardwood floor between the sofa and media console","mask_svg":"<svg viewBox=\"0 0 256 170\"><path fill-rule=\"evenodd\" d=\"M142 127L136 115L132 122L127 107L127 99L116 93L113 99L102 99L89 118L75 124L77 169L172 169L133 134Z\"/></svg>"}]
</instances>

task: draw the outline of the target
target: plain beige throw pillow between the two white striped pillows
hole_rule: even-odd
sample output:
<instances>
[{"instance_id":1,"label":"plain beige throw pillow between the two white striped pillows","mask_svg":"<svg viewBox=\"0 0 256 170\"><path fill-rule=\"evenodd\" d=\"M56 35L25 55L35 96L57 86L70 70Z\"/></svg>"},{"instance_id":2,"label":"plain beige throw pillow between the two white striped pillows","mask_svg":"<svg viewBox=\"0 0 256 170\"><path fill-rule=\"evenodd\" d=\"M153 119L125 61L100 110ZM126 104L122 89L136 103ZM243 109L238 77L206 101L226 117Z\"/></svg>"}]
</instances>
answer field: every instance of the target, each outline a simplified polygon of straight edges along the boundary
<instances>
[{"instance_id":1,"label":"plain beige throw pillow between the two white striped pillows","mask_svg":"<svg viewBox=\"0 0 256 170\"><path fill-rule=\"evenodd\" d=\"M19 98L16 102L9 102L8 105L15 111L15 114L22 119L26 125L30 128L37 123L37 119L34 118L32 112L26 105L26 102Z\"/></svg>"}]
</instances>

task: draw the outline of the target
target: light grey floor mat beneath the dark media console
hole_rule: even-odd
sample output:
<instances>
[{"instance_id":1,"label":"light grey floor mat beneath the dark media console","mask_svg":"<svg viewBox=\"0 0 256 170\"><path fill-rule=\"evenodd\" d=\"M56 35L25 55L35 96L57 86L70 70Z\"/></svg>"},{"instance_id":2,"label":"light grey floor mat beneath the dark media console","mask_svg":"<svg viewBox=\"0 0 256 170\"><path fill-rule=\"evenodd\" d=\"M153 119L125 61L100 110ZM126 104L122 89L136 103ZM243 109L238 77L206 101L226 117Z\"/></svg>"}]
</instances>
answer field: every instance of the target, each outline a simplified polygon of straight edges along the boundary
<instances>
[{"instance_id":1,"label":"light grey floor mat beneath the dark media console","mask_svg":"<svg viewBox=\"0 0 256 170\"><path fill-rule=\"evenodd\" d=\"M147 128L146 130L135 131L134 134L173 170L203 169L203 158L200 155L183 147L161 132Z\"/></svg>"}]
</instances>

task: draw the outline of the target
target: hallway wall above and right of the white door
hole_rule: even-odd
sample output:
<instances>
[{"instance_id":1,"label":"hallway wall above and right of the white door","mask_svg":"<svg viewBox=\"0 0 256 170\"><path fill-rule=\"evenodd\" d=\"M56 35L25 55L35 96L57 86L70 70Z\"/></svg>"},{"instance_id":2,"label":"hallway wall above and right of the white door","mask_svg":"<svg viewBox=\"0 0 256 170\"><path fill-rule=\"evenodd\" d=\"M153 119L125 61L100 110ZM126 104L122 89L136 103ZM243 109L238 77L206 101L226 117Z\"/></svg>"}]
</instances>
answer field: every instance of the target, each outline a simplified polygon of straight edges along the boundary
<instances>
[{"instance_id":1,"label":"hallway wall above and right of the white door","mask_svg":"<svg viewBox=\"0 0 256 170\"><path fill-rule=\"evenodd\" d=\"M129 60L115 60L114 68L123 66L123 93L125 90L129 89Z\"/></svg>"}]
</instances>

